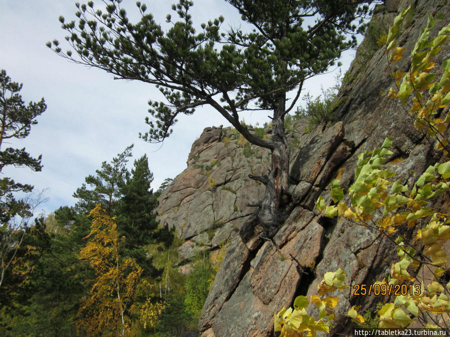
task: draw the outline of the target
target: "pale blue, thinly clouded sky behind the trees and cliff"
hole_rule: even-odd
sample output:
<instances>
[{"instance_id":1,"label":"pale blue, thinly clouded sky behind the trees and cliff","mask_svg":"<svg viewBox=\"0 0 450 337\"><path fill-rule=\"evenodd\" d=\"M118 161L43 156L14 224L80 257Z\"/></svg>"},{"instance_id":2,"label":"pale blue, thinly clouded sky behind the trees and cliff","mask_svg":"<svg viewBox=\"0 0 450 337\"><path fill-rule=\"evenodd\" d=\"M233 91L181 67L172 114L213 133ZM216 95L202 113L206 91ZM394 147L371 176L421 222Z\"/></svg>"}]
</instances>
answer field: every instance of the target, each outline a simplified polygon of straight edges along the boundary
<instances>
[{"instance_id":1,"label":"pale blue, thinly clouded sky behind the trees and cliff","mask_svg":"<svg viewBox=\"0 0 450 337\"><path fill-rule=\"evenodd\" d=\"M80 1L83 2L83 1ZM164 22L171 12L172 1L142 0L157 22ZM47 109L37 117L28 137L12 140L7 146L25 147L33 157L42 154L42 171L28 168L4 168L1 174L16 182L45 190L47 201L38 212L49 214L60 206L72 206L73 192L84 178L94 174L103 161L110 161L126 146L134 144L134 159L146 154L153 172L152 188L156 190L165 178L174 178L186 168L192 143L205 127L230 126L209 107L191 116L180 115L172 135L163 144L149 144L138 138L147 131L144 119L149 116L147 101L163 99L152 85L136 81L114 80L111 74L96 68L74 64L56 55L45 43L57 39L63 50L66 31L61 29L59 15L66 21L75 19L74 0L0 0L0 69L12 81L23 83L20 91L25 103L44 98ZM94 1L101 5L99 0ZM131 19L138 18L134 0L123 0ZM237 11L223 0L194 0L194 24L223 15L222 25L239 24ZM172 19L176 14L172 15ZM354 56L350 50L340 60L344 73ZM316 76L304 85L302 93L313 96L320 87L334 84L335 72ZM244 115L246 123L263 124L267 113ZM6 145L5 145L6 146Z\"/></svg>"}]
</instances>

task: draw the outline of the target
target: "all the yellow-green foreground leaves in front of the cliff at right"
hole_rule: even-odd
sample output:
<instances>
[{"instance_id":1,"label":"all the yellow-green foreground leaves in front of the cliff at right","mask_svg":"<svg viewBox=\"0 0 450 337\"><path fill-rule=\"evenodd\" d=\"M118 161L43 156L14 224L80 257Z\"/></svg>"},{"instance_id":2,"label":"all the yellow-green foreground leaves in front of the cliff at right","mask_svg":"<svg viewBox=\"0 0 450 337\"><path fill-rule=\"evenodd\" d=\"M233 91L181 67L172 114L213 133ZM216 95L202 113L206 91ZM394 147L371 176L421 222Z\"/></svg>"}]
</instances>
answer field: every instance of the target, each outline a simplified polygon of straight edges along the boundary
<instances>
[{"instance_id":1,"label":"all the yellow-green foreground leaves in front of the cliff at right","mask_svg":"<svg viewBox=\"0 0 450 337\"><path fill-rule=\"evenodd\" d=\"M405 15L409 12L410 7L404 9L389 29L386 37L389 65L402 58L404 48L397 47L396 37ZM355 182L348 191L351 206L343 202L337 206L326 206L322 197L315 203L315 207L326 217L345 217L361 226L374 228L387 237L397 233L399 226L405 226L405 230L415 234L415 242L404 242L402 237L397 236L395 243L399 259L391 266L388 284L384 279L374 283L374 286L378 287L373 289L382 289L385 292L383 295L394 298L393 303L384 304L378 311L379 328L407 327L412 318L418 316L421 318L419 322L425 327L431 327L427 323L427 320L431 319L434 328L442 328L450 319L450 282L442 278L450 274L450 259L446 255L450 246L450 217L428 207L437 197L443 198L443 203L448 206L450 186L450 161L445 159L450 152L450 137L446 134L450 111L445 109L450 105L450 59L442 62L440 80L435 80L436 74L431 73L435 67L431 59L450 37L450 24L444 26L436 37L429 39L434 23L434 19L429 16L427 25L422 29L411 52L411 67L408 72L391 72L396 88L391 88L388 96L399 99L403 106L408 103L408 99L411 101L407 112L415 119L414 126L417 129L423 129L428 137L435 138L436 149L441 150L443 155L440 162L429 166L412 189L407 185L403 186L399 180L390 181L389 178L393 177L394 173L388 169L381 170L385 157L393 154L389 151L392 138L386 138L381 149L367 151L358 156ZM440 116L442 111L444 116ZM331 182L331 198L335 204L344 199L338 180ZM379 213L376 218L373 217L375 212ZM431 276L418 284L415 276L420 268ZM325 273L324 279L317 287L317 294L323 296L342 289L342 276L343 271L341 273L339 270L335 273ZM424 285L424 282L428 283ZM372 289L371 286L369 289ZM295 299L293 310L283 308L275 314L275 332L281 332L280 336L283 337L305 334L315 336L316 331L328 332L329 319L324 321L328 314L325 308L334 308L337 298L319 296L312 296L310 301L321 311L318 321L306 313L305 308L309 301L300 296ZM357 313L357 309L358 307L351 307L347 315L356 322L363 323L364 319ZM430 314L439 316L434 319Z\"/></svg>"}]
</instances>

